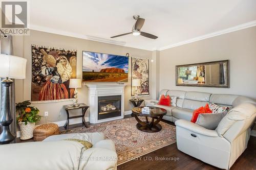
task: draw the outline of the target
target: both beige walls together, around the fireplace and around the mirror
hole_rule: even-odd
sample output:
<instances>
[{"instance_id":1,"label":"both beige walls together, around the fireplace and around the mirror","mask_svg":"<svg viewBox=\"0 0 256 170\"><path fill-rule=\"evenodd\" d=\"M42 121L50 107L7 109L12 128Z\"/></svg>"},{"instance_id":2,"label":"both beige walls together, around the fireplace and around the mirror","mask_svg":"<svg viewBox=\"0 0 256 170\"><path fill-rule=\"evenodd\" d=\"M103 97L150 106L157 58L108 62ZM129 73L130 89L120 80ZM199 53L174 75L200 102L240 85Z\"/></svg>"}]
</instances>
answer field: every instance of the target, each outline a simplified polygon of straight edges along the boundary
<instances>
[{"instance_id":1,"label":"both beige walls together, around the fireplace and around the mirror","mask_svg":"<svg viewBox=\"0 0 256 170\"><path fill-rule=\"evenodd\" d=\"M205 91L212 93L241 94L256 99L256 27L232 32L194 43L189 43L163 51L146 51L108 43L84 40L46 32L31 30L30 36L14 36L14 55L28 59L27 78L16 80L16 102L30 100L31 96L31 44L46 45L77 50L77 78L82 77L82 51L93 51L116 55L129 53L131 57L150 59L150 96L144 99L158 98L161 89L187 91ZM230 60L230 88L181 87L175 85L175 66L190 63ZM153 62L151 62L153 60ZM78 89L80 103L88 103L87 87ZM131 67L129 82L125 87L125 111L132 108ZM49 111L48 122L66 119L62 105L72 101L33 104L40 110L40 115ZM45 123L42 118L41 123Z\"/></svg>"}]
</instances>

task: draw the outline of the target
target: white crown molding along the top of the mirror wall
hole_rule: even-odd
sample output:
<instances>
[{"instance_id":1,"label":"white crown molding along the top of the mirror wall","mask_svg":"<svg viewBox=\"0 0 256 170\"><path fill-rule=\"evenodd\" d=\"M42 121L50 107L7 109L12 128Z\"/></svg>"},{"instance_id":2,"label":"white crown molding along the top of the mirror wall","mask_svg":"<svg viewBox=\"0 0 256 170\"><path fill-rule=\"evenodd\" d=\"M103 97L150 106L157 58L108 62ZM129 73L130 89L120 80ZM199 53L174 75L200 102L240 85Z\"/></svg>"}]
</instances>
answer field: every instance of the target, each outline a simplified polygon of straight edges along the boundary
<instances>
[{"instance_id":1,"label":"white crown molding along the top of the mirror wall","mask_svg":"<svg viewBox=\"0 0 256 170\"><path fill-rule=\"evenodd\" d=\"M231 33L231 32L234 32L234 31L243 30L243 29L246 29L246 28L254 27L254 26L256 26L256 20L246 22L246 23L243 23L241 25L230 27L230 28L227 28L227 29L224 29L224 30L216 31L216 32L213 32L213 33L210 33L210 34L205 34L205 35L202 35L202 36L199 36L199 37L191 38L191 39L181 41L181 42L178 42L178 43L174 43L174 44L170 44L170 45L167 45L167 46L159 47L158 50L162 51L162 50L166 50L168 48L173 48L173 47L176 47L176 46L188 44L188 43L195 42L195 41L200 41L200 40L203 40L203 39L219 36L219 35L226 34L226 33Z\"/></svg>"}]
</instances>

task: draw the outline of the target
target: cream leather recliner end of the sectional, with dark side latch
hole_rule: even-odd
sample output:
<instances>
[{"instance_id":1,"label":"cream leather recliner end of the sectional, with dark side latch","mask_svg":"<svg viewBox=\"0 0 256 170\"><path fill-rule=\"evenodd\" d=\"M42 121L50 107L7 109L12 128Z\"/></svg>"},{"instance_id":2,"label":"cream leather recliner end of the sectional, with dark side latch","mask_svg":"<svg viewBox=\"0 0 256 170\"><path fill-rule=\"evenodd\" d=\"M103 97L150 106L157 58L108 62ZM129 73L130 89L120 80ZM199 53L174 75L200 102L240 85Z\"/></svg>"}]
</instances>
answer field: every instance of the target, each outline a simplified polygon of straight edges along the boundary
<instances>
[{"instance_id":1,"label":"cream leather recliner end of the sectional, with dark side latch","mask_svg":"<svg viewBox=\"0 0 256 170\"><path fill-rule=\"evenodd\" d=\"M184 119L175 122L180 151L219 168L229 169L247 148L256 107L242 103L231 109L216 130Z\"/></svg>"}]
</instances>

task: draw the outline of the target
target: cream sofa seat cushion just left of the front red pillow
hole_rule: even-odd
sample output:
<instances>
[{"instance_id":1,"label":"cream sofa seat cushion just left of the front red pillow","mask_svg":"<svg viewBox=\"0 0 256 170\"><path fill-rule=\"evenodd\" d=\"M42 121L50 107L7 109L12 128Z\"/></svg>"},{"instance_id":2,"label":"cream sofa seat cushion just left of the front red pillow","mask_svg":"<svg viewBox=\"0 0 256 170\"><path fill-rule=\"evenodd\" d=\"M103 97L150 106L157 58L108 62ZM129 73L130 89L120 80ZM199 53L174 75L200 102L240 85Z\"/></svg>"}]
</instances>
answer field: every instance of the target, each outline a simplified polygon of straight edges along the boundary
<instances>
[{"instance_id":1,"label":"cream sofa seat cushion just left of the front red pillow","mask_svg":"<svg viewBox=\"0 0 256 170\"><path fill-rule=\"evenodd\" d=\"M176 107L172 110L172 115L175 118L190 121L193 115L193 110Z\"/></svg>"}]
</instances>

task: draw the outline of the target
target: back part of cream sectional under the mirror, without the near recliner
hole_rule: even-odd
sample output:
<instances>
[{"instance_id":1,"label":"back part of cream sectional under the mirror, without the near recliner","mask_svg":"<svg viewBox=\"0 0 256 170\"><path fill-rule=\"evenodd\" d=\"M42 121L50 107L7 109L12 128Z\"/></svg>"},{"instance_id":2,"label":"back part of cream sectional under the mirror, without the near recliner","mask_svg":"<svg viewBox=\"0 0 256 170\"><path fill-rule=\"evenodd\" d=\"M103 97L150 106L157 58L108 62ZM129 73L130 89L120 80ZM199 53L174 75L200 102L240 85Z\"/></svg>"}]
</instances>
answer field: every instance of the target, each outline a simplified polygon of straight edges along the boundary
<instances>
[{"instance_id":1,"label":"back part of cream sectional under the mirror, without the near recliner","mask_svg":"<svg viewBox=\"0 0 256 170\"><path fill-rule=\"evenodd\" d=\"M205 106L206 103L215 103L220 106L228 106L229 110L241 103L256 104L256 102L252 99L233 94L212 94L206 92L168 89L161 90L160 95L162 94L177 96L177 106L154 105L167 110L167 114L163 117L163 119L169 120L170 122L176 122L178 119L190 121L193 111L201 106Z\"/></svg>"}]
</instances>

